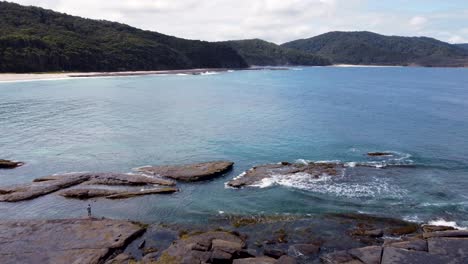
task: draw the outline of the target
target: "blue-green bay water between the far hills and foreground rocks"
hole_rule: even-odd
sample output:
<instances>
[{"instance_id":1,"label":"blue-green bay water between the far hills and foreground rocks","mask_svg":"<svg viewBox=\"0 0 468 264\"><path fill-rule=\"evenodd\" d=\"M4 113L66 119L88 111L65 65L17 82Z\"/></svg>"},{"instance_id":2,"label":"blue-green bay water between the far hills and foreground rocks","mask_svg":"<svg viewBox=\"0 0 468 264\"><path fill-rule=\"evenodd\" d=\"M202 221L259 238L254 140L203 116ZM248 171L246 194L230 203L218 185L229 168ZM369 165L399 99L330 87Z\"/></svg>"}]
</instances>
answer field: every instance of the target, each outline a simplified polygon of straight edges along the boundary
<instances>
[{"instance_id":1,"label":"blue-green bay water between the far hills and foreground rocks","mask_svg":"<svg viewBox=\"0 0 468 264\"><path fill-rule=\"evenodd\" d=\"M363 212L468 226L468 70L313 67L0 83L0 185L74 171L227 159L230 173L170 196L92 201L98 216L203 223L225 214ZM369 151L394 157L368 158ZM254 165L340 161L343 176L225 182ZM353 167L353 162L375 165ZM388 166L385 165L405 165ZM411 165L411 166L408 166ZM55 194L0 218L66 218Z\"/></svg>"}]
</instances>

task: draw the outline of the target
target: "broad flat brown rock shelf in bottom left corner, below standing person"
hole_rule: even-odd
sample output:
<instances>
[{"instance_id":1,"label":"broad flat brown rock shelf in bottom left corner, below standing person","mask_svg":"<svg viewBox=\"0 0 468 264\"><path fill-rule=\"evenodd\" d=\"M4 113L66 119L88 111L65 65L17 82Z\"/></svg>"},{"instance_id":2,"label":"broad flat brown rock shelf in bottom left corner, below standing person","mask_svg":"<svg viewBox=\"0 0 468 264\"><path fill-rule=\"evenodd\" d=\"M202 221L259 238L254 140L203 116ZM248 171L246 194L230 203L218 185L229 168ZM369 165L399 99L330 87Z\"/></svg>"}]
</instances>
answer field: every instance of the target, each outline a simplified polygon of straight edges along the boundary
<instances>
[{"instance_id":1,"label":"broad flat brown rock shelf in bottom left corner, below standing person","mask_svg":"<svg viewBox=\"0 0 468 264\"><path fill-rule=\"evenodd\" d=\"M121 220L0 221L3 264L103 263L144 232Z\"/></svg>"}]
</instances>

